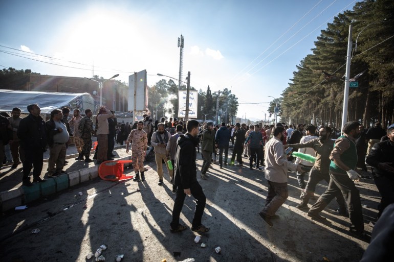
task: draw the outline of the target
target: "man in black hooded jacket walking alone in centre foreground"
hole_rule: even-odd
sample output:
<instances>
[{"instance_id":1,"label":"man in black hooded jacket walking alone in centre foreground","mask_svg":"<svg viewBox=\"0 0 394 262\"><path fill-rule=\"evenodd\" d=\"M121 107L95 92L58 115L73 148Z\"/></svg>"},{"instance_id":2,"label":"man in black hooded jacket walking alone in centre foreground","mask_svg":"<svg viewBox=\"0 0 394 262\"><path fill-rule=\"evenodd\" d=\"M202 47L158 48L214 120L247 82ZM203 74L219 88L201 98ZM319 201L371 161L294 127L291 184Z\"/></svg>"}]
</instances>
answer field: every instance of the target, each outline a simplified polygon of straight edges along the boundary
<instances>
[{"instance_id":1,"label":"man in black hooded jacket walking alone in centre foreground","mask_svg":"<svg viewBox=\"0 0 394 262\"><path fill-rule=\"evenodd\" d=\"M209 231L209 228L201 224L201 218L204 213L206 197L203 188L197 181L195 165L195 158L197 156L195 147L198 146L196 136L199 133L199 122L189 120L186 128L187 133L180 135L177 141L173 184L174 186L178 186L178 190L172 209L171 232L179 232L187 228L186 225L179 224L179 217L186 195L190 196L191 194L196 199L191 230L198 233L205 233Z\"/></svg>"}]
</instances>

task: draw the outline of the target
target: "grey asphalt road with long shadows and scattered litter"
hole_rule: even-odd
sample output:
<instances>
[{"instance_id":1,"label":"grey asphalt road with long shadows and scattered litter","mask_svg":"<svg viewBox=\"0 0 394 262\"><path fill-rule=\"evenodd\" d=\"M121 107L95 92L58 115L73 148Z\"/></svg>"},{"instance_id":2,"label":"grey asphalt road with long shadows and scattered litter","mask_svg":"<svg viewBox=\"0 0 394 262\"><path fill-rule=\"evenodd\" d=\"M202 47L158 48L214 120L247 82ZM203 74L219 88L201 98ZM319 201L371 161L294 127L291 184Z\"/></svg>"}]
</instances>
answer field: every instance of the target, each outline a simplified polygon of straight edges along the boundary
<instances>
[{"instance_id":1,"label":"grey asphalt road with long shadows and scattered litter","mask_svg":"<svg viewBox=\"0 0 394 262\"><path fill-rule=\"evenodd\" d=\"M124 151L118 149L117 154ZM324 257L359 261L367 247L348 233L349 219L336 215L335 201L322 212L329 220L325 224L310 220L295 207L300 190L294 173L289 172L290 196L279 208L274 226L269 227L257 215L267 196L264 172L236 166L220 170L213 165L208 180L199 178L207 196L203 223L211 227L201 237L200 243L206 244L203 249L193 242L196 234L190 229L170 232L174 195L168 174L159 186L155 162L145 164L149 169L146 182L97 178L32 203L26 210L4 213L0 219L1 260L92 261L85 259L86 254L107 244L106 261L113 261L117 254L125 255L123 261L181 261L188 257L195 261L324 261ZM201 164L199 155L199 169ZM320 183L316 194L326 186ZM377 215L379 193L371 179L358 183L358 188L366 205L365 229L370 232L368 223ZM189 227L194 207L193 198L186 197L181 220ZM33 228L40 232L31 233ZM221 254L215 253L217 246L222 248ZM173 252L180 256L174 257Z\"/></svg>"}]
</instances>

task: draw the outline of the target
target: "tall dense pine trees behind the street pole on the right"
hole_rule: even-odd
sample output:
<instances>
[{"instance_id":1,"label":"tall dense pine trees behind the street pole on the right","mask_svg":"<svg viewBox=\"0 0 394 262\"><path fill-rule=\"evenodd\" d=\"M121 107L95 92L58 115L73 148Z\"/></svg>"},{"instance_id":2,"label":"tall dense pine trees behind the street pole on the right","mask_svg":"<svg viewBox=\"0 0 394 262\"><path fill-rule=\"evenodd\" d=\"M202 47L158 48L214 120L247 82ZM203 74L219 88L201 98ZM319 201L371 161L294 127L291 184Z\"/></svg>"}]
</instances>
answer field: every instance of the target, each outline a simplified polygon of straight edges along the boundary
<instances>
[{"instance_id":1,"label":"tall dense pine trees behind the street pole on the right","mask_svg":"<svg viewBox=\"0 0 394 262\"><path fill-rule=\"evenodd\" d=\"M278 99L284 122L341 126L349 25L353 49L347 120L364 126L394 122L394 1L366 0L334 18L321 31L312 54L297 65ZM357 49L356 49L357 39ZM362 74L361 74L362 73ZM276 101L270 104L274 112Z\"/></svg>"}]
</instances>

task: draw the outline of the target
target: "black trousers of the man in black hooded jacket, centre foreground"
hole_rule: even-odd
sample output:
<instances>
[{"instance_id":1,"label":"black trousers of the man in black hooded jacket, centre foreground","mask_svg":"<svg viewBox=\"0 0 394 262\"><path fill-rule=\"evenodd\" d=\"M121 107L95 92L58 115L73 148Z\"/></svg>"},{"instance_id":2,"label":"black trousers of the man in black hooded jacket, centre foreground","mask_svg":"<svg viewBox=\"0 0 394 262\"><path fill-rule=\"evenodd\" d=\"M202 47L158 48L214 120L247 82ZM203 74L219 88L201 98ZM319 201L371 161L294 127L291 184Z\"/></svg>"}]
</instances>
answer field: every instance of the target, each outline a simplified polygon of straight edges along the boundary
<instances>
[{"instance_id":1,"label":"black trousers of the man in black hooded jacket, centre foreground","mask_svg":"<svg viewBox=\"0 0 394 262\"><path fill-rule=\"evenodd\" d=\"M174 207L172 209L172 221L170 224L172 229L176 229L179 225L179 217L181 215L183 202L185 201L186 197L183 189L184 188L182 188L181 186L178 186ZM190 193L196 199L194 217L192 221L192 227L196 228L201 225L201 218L203 217L206 198L203 192L203 188L197 181L190 185Z\"/></svg>"}]
</instances>

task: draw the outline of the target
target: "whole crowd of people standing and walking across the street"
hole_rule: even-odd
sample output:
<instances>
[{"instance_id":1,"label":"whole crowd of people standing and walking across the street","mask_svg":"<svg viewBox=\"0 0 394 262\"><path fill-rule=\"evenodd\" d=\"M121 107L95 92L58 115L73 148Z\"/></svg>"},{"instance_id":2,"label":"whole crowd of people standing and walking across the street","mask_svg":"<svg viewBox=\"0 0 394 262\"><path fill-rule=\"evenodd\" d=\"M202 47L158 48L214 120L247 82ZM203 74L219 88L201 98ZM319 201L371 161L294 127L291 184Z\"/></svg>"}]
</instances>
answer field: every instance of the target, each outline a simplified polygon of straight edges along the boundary
<instances>
[{"instance_id":1,"label":"whole crowd of people standing and walking across the street","mask_svg":"<svg viewBox=\"0 0 394 262\"><path fill-rule=\"evenodd\" d=\"M186 195L193 195L196 208L192 230L207 232L208 227L201 223L205 208L205 195L197 180L196 156L201 149L203 164L199 171L201 179L210 177L212 164L234 165L242 168L244 159L249 162L249 169L264 171L268 183L268 196L265 206L258 212L264 221L273 226L272 219L278 208L288 198L288 170L296 172L301 189L300 203L297 208L308 209L308 216L324 221L320 212L336 198L338 215L349 216L350 229L359 237L364 237L364 221L357 183L371 166L376 186L382 196L379 204L378 219L385 208L394 203L394 125L387 130L376 123L374 127L364 129L358 122L345 123L341 132L331 124L320 125L230 125L213 122L200 124L198 121L166 120L162 117L156 122L148 115L143 121L132 126L129 123L118 124L114 111L100 107L93 125L93 112L85 110L81 116L75 109L69 117L70 109L54 109L48 121L40 116L37 104L27 107L29 115L20 117L20 109L14 108L12 116L0 115L1 138L0 159L5 157L9 145L13 164L12 169L23 162L23 184L30 186L29 178L33 169L33 182L45 182L41 178L43 152L50 151L48 176L55 177L63 171L65 156L70 136L78 150L76 160L97 164L113 159L115 141L123 145L126 152L132 144L132 160L136 173L134 181L145 181L144 160L148 146L154 148L157 164L158 185L164 183L163 163L166 166L172 193L176 194L172 211L171 232L185 230L186 225L179 223L180 212ZM93 159L90 158L92 136L96 135L98 146ZM233 152L229 159L229 148ZM288 150L286 150L288 149ZM298 157L292 152L298 150ZM314 157L314 161L302 155ZM0 162L0 165L3 161ZM308 174L308 181L304 177ZM309 200L315 198L317 184L325 180L329 186L309 208Z\"/></svg>"}]
</instances>

